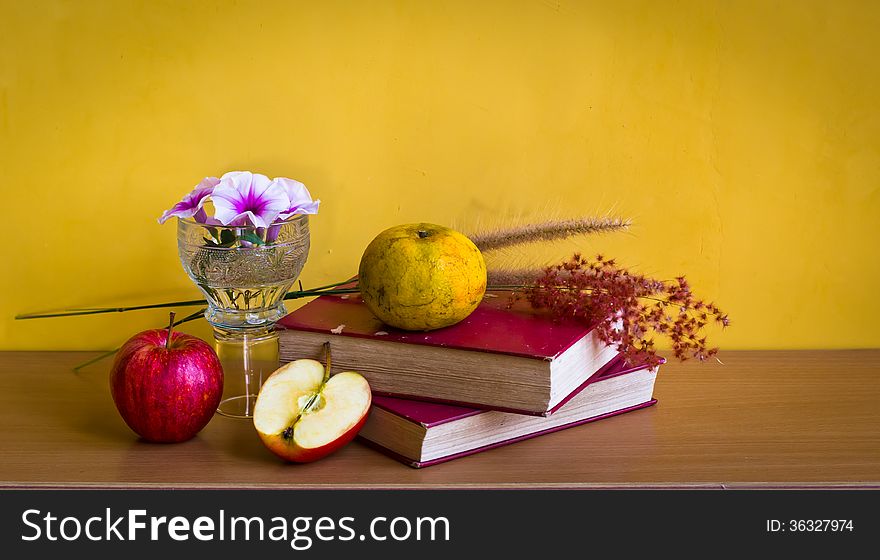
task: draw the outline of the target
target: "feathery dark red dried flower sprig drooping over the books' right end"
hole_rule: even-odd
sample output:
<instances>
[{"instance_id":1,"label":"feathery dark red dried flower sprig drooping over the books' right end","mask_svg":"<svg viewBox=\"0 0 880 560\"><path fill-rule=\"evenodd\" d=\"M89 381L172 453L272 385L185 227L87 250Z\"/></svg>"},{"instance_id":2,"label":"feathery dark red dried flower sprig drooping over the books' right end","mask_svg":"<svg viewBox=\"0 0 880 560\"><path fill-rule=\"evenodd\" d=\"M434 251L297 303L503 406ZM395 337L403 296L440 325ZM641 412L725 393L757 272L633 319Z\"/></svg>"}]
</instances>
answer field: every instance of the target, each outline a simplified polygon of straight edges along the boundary
<instances>
[{"instance_id":1,"label":"feathery dark red dried flower sprig drooping over the books' right end","mask_svg":"<svg viewBox=\"0 0 880 560\"><path fill-rule=\"evenodd\" d=\"M707 346L704 327L713 321L722 328L730 324L718 306L693 295L683 276L664 282L631 274L602 255L590 260L575 254L544 269L525 297L558 317L598 320L603 342L616 345L630 363L652 366L663 362L654 349L655 335L669 338L679 360L703 361L718 353Z\"/></svg>"}]
</instances>

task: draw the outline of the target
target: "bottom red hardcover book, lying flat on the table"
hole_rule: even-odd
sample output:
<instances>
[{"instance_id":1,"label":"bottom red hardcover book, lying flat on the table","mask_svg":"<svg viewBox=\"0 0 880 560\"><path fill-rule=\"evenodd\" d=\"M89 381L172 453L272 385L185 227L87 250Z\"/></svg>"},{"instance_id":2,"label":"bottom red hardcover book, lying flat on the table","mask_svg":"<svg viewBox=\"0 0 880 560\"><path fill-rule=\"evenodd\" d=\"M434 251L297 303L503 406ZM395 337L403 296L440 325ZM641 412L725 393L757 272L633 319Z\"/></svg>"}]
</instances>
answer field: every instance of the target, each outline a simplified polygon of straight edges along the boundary
<instances>
[{"instance_id":1,"label":"bottom red hardcover book, lying flat on the table","mask_svg":"<svg viewBox=\"0 0 880 560\"><path fill-rule=\"evenodd\" d=\"M376 396L358 437L411 467L427 467L651 406L656 376L657 368L618 357L545 418Z\"/></svg>"}]
</instances>

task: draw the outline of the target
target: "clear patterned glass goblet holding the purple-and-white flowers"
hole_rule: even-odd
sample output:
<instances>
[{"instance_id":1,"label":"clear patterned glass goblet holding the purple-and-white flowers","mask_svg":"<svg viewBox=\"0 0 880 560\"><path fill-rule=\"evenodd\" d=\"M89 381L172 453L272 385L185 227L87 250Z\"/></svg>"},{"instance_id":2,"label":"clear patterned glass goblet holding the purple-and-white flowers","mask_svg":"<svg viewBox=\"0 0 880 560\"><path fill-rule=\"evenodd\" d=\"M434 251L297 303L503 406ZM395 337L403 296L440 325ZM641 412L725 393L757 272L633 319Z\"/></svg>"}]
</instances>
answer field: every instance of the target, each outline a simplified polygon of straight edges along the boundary
<instances>
[{"instance_id":1,"label":"clear patterned glass goblet holding the purple-and-white flowers","mask_svg":"<svg viewBox=\"0 0 880 560\"><path fill-rule=\"evenodd\" d=\"M224 373L217 412L251 418L263 379L278 368L275 322L287 313L284 296L309 254L308 216L268 228L179 219L177 249L208 302Z\"/></svg>"}]
</instances>

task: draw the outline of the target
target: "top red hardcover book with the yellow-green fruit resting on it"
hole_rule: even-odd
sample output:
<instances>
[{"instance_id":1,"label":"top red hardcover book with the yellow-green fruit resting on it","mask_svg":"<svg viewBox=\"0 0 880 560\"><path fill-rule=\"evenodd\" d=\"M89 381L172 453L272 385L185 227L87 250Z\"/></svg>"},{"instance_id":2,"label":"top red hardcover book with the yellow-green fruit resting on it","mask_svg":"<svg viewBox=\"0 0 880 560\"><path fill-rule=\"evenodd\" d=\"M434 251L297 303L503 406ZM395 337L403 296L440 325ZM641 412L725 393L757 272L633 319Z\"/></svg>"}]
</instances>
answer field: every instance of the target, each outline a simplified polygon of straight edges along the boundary
<instances>
[{"instance_id":1,"label":"top red hardcover book with the yellow-green fruit resting on it","mask_svg":"<svg viewBox=\"0 0 880 560\"><path fill-rule=\"evenodd\" d=\"M549 415L617 355L593 326L556 321L507 293L430 332L393 329L357 295L322 296L279 322L282 362L321 359L353 370L374 394Z\"/></svg>"}]
</instances>

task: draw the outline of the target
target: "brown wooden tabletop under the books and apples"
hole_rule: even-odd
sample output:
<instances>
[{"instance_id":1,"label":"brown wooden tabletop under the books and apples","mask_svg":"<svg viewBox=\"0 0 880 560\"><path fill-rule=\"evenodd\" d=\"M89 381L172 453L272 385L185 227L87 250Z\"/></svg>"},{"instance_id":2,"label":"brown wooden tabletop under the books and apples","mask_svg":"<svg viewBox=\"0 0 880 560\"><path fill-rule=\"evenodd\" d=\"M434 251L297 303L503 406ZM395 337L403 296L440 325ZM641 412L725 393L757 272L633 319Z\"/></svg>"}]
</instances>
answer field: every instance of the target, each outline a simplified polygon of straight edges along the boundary
<instances>
[{"instance_id":1,"label":"brown wooden tabletop under the books and apples","mask_svg":"<svg viewBox=\"0 0 880 560\"><path fill-rule=\"evenodd\" d=\"M880 350L726 352L663 366L651 408L411 469L354 442L285 464L215 416L139 441L94 353L0 353L0 486L157 488L880 487Z\"/></svg>"}]
</instances>

